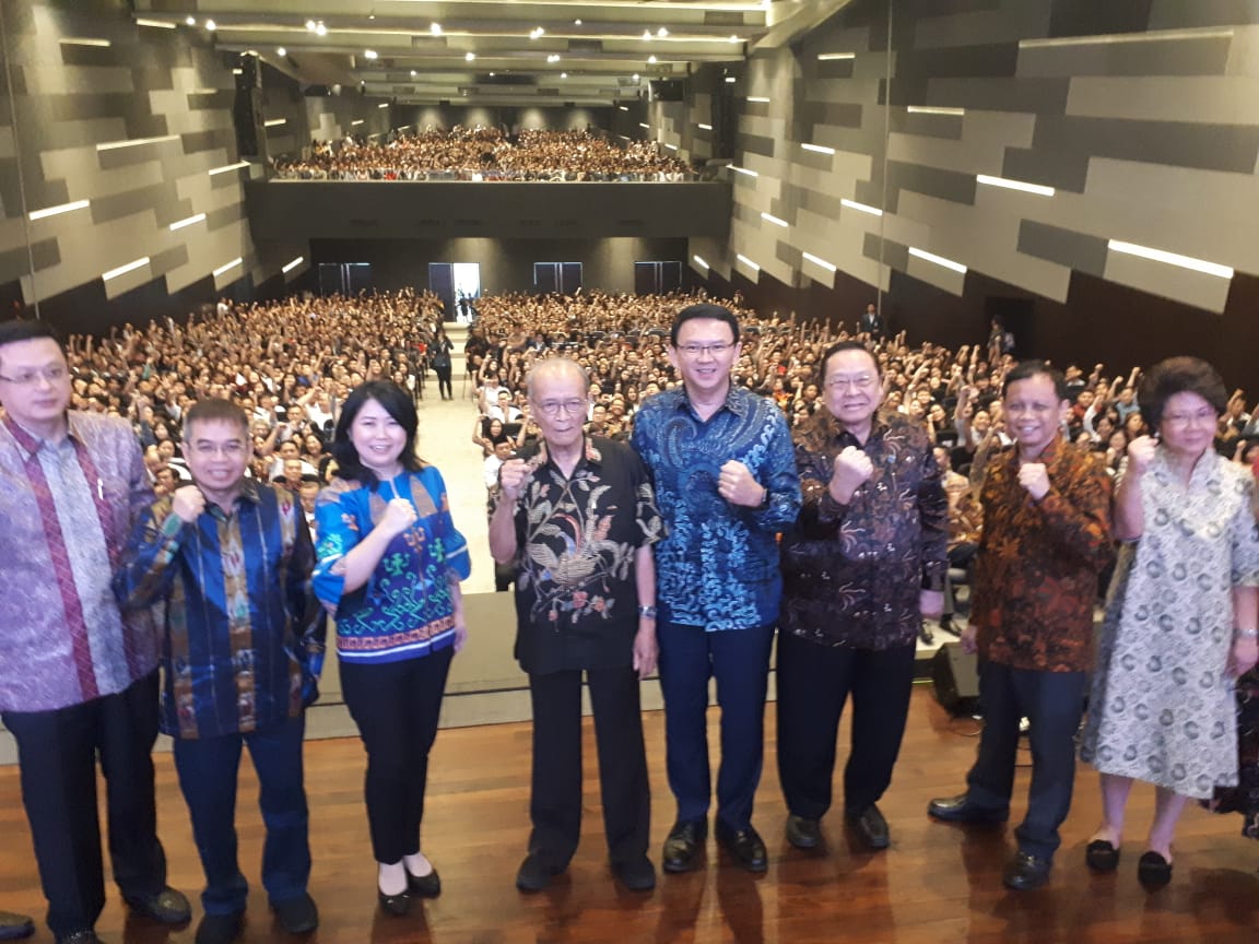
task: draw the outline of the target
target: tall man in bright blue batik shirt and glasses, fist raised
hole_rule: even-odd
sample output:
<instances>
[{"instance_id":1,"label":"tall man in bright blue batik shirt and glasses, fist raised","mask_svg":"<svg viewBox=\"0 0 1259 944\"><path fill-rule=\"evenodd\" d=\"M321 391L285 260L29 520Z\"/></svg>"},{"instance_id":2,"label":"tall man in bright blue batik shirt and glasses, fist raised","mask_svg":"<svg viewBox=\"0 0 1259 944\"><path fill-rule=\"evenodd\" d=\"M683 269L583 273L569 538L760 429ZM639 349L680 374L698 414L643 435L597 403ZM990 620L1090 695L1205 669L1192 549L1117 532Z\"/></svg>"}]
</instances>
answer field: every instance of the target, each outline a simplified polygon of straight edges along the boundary
<instances>
[{"instance_id":1,"label":"tall man in bright blue batik shirt and glasses, fist raised","mask_svg":"<svg viewBox=\"0 0 1259 944\"><path fill-rule=\"evenodd\" d=\"M765 846L752 826L752 802L782 595L777 534L799 511L799 480L782 412L730 383L739 322L729 310L692 305L680 311L669 359L682 388L646 400L633 430L669 525L669 536L656 545L657 641L677 821L662 867L692 868L708 834L708 683L715 677L721 706L716 838L744 868L763 872Z\"/></svg>"}]
</instances>

